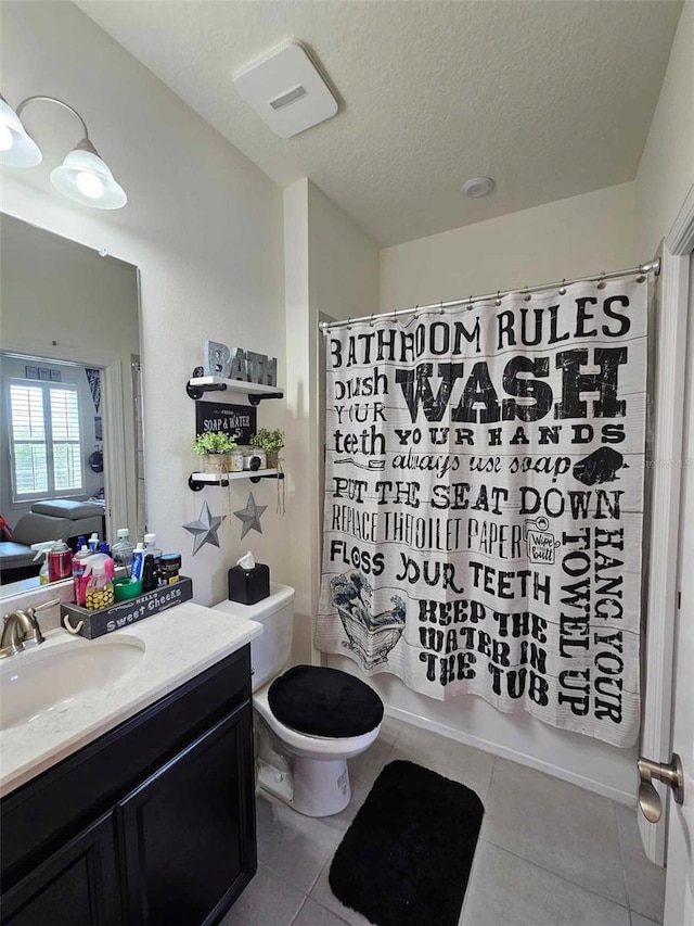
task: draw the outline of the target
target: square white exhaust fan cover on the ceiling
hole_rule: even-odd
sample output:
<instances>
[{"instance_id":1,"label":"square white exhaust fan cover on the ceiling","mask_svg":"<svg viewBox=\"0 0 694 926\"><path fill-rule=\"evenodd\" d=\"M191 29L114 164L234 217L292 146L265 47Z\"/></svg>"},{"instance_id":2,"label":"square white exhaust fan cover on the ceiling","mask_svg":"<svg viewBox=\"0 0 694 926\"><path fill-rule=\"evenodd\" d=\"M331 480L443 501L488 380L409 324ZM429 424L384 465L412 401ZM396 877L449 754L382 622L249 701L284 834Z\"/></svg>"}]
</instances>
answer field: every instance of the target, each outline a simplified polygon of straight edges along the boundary
<instances>
[{"instance_id":1,"label":"square white exhaust fan cover on the ceiling","mask_svg":"<svg viewBox=\"0 0 694 926\"><path fill-rule=\"evenodd\" d=\"M280 138L292 138L337 112L337 100L298 41L284 41L246 64L233 84Z\"/></svg>"}]
</instances>

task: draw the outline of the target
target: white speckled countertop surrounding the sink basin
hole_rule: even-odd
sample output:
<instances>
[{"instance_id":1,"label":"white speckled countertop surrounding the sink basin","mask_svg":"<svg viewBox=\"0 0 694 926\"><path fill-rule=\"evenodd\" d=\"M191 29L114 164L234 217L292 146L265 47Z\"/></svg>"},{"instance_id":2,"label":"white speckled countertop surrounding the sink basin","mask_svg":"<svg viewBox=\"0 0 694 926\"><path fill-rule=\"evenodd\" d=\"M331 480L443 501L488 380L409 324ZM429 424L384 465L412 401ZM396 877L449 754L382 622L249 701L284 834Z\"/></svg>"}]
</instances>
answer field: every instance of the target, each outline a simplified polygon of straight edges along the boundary
<instances>
[{"instance_id":1,"label":"white speckled countertop surrounding the sink basin","mask_svg":"<svg viewBox=\"0 0 694 926\"><path fill-rule=\"evenodd\" d=\"M2 672L67 645L88 648L119 635L136 637L142 657L117 681L80 693L22 723L0 731L0 795L4 796L91 743L149 705L194 678L262 633L256 621L187 601L95 640L49 631L46 643L0 662ZM142 646L143 645L143 646ZM56 654L55 659L60 659Z\"/></svg>"}]
</instances>

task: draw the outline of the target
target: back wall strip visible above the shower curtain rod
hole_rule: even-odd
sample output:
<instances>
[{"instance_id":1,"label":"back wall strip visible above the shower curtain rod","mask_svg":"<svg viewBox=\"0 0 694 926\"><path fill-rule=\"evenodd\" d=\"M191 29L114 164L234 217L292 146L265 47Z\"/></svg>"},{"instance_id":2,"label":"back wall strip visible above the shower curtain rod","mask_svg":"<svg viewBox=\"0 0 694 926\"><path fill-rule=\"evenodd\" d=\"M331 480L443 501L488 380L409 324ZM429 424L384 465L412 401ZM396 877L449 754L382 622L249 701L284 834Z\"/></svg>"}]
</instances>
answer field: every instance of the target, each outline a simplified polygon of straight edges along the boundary
<instances>
[{"instance_id":1,"label":"back wall strip visible above the shower curtain rod","mask_svg":"<svg viewBox=\"0 0 694 926\"><path fill-rule=\"evenodd\" d=\"M381 252L381 310L631 267L633 183L558 200Z\"/></svg>"}]
</instances>

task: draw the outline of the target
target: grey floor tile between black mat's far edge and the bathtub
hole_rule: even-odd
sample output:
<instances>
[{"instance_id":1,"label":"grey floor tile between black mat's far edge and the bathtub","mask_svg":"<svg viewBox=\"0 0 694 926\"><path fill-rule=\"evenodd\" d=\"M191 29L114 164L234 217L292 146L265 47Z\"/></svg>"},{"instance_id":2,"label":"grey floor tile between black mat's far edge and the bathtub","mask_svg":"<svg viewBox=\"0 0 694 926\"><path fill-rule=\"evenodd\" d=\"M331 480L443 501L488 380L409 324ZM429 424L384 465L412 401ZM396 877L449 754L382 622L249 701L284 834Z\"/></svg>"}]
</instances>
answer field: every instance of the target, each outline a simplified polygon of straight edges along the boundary
<instances>
[{"instance_id":1,"label":"grey floor tile between black mat's far edge and the bathtub","mask_svg":"<svg viewBox=\"0 0 694 926\"><path fill-rule=\"evenodd\" d=\"M494 757L438 733L403 723L388 761L407 759L472 788L483 803L489 790Z\"/></svg>"}]
</instances>

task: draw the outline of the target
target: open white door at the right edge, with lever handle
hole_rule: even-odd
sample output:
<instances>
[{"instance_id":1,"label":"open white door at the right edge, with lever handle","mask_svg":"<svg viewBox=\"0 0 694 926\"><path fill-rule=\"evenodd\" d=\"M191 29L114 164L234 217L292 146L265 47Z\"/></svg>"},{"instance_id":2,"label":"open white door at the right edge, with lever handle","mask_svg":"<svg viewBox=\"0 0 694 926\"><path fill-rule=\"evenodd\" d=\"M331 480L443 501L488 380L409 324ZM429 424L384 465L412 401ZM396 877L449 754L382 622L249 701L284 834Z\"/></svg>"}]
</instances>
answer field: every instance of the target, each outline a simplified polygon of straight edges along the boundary
<instances>
[{"instance_id":1,"label":"open white door at the right edge, with lever handle","mask_svg":"<svg viewBox=\"0 0 694 926\"><path fill-rule=\"evenodd\" d=\"M669 800L664 926L694 923L694 255L690 255L682 460L679 608L674 631L672 751L684 768L684 802Z\"/></svg>"}]
</instances>

